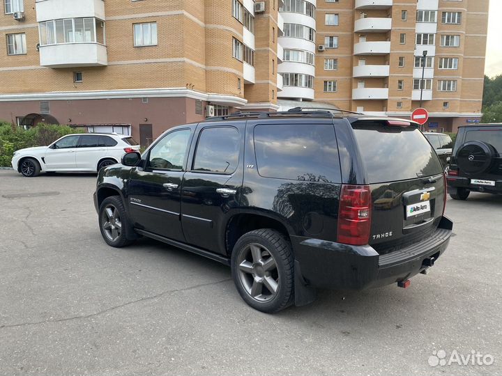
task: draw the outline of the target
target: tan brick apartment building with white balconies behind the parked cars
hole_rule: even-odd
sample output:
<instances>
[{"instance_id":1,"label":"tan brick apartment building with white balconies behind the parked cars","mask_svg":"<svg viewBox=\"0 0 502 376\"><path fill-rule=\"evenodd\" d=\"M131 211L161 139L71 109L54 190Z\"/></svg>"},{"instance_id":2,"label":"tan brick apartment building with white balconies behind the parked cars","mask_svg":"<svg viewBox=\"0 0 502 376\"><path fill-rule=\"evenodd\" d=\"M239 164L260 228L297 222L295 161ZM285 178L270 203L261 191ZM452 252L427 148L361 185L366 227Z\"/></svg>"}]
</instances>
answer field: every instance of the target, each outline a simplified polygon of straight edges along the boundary
<instances>
[{"instance_id":1,"label":"tan brick apartment building with white balconies behind the parked cars","mask_svg":"<svg viewBox=\"0 0 502 376\"><path fill-rule=\"evenodd\" d=\"M409 117L422 74L428 127L480 118L488 0L0 1L0 119L21 125L145 145L284 100Z\"/></svg>"}]
</instances>

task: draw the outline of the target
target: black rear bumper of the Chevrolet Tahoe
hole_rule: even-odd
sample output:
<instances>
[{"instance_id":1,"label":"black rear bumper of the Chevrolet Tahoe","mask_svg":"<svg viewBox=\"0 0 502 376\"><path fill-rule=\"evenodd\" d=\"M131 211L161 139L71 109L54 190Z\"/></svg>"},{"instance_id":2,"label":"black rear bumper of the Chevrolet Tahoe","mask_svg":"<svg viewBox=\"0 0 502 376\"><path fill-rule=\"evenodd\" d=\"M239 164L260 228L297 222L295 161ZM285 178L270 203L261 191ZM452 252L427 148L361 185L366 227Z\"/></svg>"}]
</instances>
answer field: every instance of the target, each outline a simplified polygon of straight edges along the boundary
<instances>
[{"instance_id":1,"label":"black rear bumper of the Chevrolet Tahoe","mask_svg":"<svg viewBox=\"0 0 502 376\"><path fill-rule=\"evenodd\" d=\"M314 288L363 290L405 281L427 269L446 250L452 221L442 217L436 231L423 242L380 256L371 246L349 246L305 237L292 237L299 272L296 278Z\"/></svg>"}]
</instances>

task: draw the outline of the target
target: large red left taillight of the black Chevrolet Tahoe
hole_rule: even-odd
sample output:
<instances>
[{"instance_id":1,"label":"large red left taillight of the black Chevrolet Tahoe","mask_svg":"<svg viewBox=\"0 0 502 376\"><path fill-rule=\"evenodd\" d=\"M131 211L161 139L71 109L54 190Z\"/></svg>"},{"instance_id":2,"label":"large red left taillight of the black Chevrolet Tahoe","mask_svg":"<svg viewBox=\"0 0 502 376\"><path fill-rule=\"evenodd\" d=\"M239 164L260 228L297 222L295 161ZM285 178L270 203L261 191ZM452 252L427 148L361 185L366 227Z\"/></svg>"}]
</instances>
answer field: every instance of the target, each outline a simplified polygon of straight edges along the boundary
<instances>
[{"instance_id":1,"label":"large red left taillight of the black Chevrolet Tahoe","mask_svg":"<svg viewBox=\"0 0 502 376\"><path fill-rule=\"evenodd\" d=\"M370 239L371 191L367 185L342 185L337 242L364 245Z\"/></svg>"}]
</instances>

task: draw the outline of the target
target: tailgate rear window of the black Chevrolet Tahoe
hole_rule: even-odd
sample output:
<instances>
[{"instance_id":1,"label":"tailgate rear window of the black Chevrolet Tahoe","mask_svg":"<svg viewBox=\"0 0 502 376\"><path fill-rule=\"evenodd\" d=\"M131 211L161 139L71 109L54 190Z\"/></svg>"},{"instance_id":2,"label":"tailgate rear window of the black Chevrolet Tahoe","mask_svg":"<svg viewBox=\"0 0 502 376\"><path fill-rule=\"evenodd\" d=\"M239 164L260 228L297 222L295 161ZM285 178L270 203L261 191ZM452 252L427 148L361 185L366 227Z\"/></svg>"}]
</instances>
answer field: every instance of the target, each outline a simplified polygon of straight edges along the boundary
<instances>
[{"instance_id":1,"label":"tailgate rear window of the black Chevrolet Tahoe","mask_svg":"<svg viewBox=\"0 0 502 376\"><path fill-rule=\"evenodd\" d=\"M443 172L436 152L415 127L381 123L353 123L352 127L371 184Z\"/></svg>"}]
</instances>

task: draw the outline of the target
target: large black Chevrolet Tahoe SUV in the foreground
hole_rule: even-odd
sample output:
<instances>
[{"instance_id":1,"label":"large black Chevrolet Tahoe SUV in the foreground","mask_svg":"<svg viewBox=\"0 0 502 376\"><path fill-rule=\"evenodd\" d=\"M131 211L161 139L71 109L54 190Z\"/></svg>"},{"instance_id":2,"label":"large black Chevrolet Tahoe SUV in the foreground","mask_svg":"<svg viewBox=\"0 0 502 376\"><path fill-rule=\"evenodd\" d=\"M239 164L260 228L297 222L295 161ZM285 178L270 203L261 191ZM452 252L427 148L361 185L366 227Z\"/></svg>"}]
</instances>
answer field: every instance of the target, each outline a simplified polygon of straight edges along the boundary
<instances>
[{"instance_id":1,"label":"large black Chevrolet Tahoe SUV in the foreground","mask_svg":"<svg viewBox=\"0 0 502 376\"><path fill-rule=\"evenodd\" d=\"M102 237L151 237L231 267L267 313L411 276L445 251L446 181L415 123L356 113L235 113L167 130L98 175Z\"/></svg>"}]
</instances>

